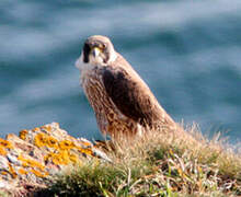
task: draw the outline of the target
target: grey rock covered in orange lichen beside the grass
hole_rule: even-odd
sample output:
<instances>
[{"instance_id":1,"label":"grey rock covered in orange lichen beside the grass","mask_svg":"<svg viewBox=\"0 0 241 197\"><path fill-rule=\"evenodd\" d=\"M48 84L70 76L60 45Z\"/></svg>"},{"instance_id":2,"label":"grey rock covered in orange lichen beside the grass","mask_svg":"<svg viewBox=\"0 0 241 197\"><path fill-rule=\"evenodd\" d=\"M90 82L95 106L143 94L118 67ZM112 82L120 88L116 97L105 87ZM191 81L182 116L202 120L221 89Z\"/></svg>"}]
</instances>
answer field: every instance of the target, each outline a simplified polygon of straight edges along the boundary
<instances>
[{"instance_id":1,"label":"grey rock covered in orange lichen beside the grass","mask_svg":"<svg viewBox=\"0 0 241 197\"><path fill-rule=\"evenodd\" d=\"M67 165L81 165L94 158L111 162L89 140L69 136L57 123L21 130L19 137L10 134L0 138L0 192L18 188L15 194L24 194L26 183L45 185Z\"/></svg>"}]
</instances>

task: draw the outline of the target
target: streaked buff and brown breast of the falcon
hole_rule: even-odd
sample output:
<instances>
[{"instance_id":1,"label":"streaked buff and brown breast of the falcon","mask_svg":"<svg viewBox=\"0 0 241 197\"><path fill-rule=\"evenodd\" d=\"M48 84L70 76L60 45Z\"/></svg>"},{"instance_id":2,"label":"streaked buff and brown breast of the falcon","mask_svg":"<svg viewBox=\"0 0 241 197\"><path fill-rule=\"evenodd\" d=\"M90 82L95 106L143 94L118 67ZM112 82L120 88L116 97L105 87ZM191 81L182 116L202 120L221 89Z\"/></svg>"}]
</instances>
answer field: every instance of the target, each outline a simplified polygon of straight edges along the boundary
<instances>
[{"instance_id":1,"label":"streaked buff and brown breast of the falcon","mask_svg":"<svg viewBox=\"0 0 241 197\"><path fill-rule=\"evenodd\" d=\"M126 130L133 127L134 123L129 120L127 124L128 118L118 111L107 95L101 74L96 71L85 72L81 77L81 84L102 132L111 134L113 130Z\"/></svg>"}]
</instances>

